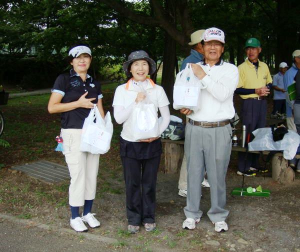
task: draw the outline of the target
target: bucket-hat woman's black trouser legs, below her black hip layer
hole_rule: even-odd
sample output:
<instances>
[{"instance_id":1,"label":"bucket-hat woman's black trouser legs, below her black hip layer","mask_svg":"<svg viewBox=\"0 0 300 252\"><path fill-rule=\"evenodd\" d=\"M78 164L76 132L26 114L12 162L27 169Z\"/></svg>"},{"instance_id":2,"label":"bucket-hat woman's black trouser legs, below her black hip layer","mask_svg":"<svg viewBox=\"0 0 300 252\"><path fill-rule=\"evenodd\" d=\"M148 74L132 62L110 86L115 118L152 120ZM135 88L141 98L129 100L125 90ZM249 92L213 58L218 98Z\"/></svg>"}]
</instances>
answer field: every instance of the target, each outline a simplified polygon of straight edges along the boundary
<instances>
[{"instance_id":1,"label":"bucket-hat woman's black trouser legs, below her black hip layer","mask_svg":"<svg viewBox=\"0 0 300 252\"><path fill-rule=\"evenodd\" d=\"M149 159L121 156L128 224L155 222L155 190L160 155Z\"/></svg>"}]
</instances>

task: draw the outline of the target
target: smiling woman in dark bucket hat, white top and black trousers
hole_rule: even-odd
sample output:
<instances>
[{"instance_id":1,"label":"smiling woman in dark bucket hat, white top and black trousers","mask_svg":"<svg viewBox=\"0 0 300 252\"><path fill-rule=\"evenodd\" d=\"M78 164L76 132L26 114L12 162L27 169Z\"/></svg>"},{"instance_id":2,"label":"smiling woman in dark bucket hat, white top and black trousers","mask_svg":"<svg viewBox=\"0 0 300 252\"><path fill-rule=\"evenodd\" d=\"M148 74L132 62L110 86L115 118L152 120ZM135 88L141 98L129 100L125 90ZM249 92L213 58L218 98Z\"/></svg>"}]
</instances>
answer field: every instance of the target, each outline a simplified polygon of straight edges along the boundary
<instances>
[{"instance_id":1,"label":"smiling woman in dark bucket hat, white top and black trousers","mask_svg":"<svg viewBox=\"0 0 300 252\"><path fill-rule=\"evenodd\" d=\"M136 141L129 118L135 106L147 98L161 114L160 135L170 121L169 101L163 88L147 77L155 72L156 63L145 51L131 52L123 63L123 69L130 79L116 88L112 106L116 122L123 123L120 155L126 186L128 231L138 232L141 223L146 231L152 231L156 229L155 187L161 142L159 136Z\"/></svg>"}]
</instances>

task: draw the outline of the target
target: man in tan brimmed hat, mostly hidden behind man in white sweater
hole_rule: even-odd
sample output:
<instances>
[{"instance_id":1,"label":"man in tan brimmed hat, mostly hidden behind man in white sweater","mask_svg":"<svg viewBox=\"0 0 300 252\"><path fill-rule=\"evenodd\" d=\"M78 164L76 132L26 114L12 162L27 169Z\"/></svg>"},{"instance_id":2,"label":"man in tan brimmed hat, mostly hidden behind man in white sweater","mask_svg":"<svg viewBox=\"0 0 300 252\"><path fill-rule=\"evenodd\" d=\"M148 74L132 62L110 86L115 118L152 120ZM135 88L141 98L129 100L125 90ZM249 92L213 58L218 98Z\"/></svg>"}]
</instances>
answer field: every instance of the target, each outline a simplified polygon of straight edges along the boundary
<instances>
[{"instance_id":1,"label":"man in tan brimmed hat, mostly hidden behind man in white sweater","mask_svg":"<svg viewBox=\"0 0 300 252\"><path fill-rule=\"evenodd\" d=\"M180 71L183 70L187 63L198 63L203 60L203 47L201 44L202 35L204 33L204 29L196 30L195 32L190 34L190 42L188 45L191 46L190 54L183 59ZM187 194L187 178L186 178L186 157L183 156L181 167L180 167L180 176L178 180L178 195L182 197L186 197ZM203 179L201 185L203 187L209 187L208 180Z\"/></svg>"}]
</instances>

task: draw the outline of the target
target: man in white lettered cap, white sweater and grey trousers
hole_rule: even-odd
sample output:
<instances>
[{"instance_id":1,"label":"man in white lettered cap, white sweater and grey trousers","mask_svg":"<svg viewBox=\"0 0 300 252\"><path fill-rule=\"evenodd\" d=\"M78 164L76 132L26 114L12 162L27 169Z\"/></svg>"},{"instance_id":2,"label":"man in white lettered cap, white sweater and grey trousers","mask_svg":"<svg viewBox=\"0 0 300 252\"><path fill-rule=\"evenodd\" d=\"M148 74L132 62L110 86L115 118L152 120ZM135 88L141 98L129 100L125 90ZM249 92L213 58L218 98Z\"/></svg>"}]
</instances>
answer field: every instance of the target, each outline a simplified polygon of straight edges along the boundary
<instances>
[{"instance_id":1,"label":"man in white lettered cap, white sweater and grey trousers","mask_svg":"<svg viewBox=\"0 0 300 252\"><path fill-rule=\"evenodd\" d=\"M193 229L202 216L201 181L204 171L210 184L210 209L207 212L214 230L226 231L225 176L231 152L231 126L234 116L233 92L238 82L237 67L224 62L224 32L212 27L205 30L201 44L204 60L191 64L195 76L205 86L201 90L201 109L181 108L185 126L184 152L187 162L187 196L182 228ZM175 109L178 109L174 105Z\"/></svg>"}]
</instances>

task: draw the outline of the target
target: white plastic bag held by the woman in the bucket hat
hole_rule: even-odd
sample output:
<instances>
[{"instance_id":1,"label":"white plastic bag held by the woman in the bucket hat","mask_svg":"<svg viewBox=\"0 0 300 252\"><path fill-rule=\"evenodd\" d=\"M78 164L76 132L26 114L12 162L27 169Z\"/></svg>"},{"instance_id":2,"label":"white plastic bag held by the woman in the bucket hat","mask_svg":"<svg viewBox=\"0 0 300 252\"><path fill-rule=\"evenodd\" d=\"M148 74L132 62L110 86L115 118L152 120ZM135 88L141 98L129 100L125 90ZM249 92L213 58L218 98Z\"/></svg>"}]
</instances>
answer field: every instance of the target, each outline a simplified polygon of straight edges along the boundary
<instances>
[{"instance_id":1,"label":"white plastic bag held by the woman in the bucket hat","mask_svg":"<svg viewBox=\"0 0 300 252\"><path fill-rule=\"evenodd\" d=\"M134 141L159 136L157 111L147 97L134 105L128 125L132 128Z\"/></svg>"}]
</instances>

